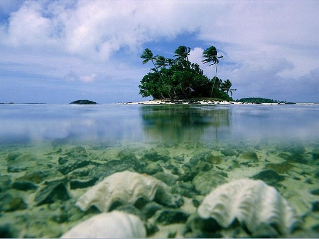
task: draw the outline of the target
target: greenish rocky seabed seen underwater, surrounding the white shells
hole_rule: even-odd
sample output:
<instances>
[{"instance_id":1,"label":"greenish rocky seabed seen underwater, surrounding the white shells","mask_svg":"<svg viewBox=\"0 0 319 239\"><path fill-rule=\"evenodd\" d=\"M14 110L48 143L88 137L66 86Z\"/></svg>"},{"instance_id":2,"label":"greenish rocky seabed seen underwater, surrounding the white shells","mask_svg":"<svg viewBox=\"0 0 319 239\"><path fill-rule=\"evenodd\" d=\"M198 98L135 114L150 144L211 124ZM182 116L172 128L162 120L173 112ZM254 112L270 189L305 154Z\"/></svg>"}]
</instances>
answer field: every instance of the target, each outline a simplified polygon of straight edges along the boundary
<instances>
[{"instance_id":1,"label":"greenish rocky seabed seen underwater, surrounding the white shells","mask_svg":"<svg viewBox=\"0 0 319 239\"><path fill-rule=\"evenodd\" d=\"M105 213L107 218L112 212L141 220L147 238L312 238L319 233L319 152L315 142L50 142L3 146L0 165L2 238L59 238L96 215ZM106 208L94 204L79 207L83 195L105 181L107 185L119 173L151 177L160 185L154 187L158 195L140 192L134 200L128 195L122 200L119 190L120 196ZM287 234L270 227L264 235L264 228L251 232L240 220L224 228L218 220L198 216L207 195L243 178L261 180L276 189L295 210L299 227ZM123 185L115 188L125 188ZM105 188L108 190L108 186Z\"/></svg>"}]
</instances>

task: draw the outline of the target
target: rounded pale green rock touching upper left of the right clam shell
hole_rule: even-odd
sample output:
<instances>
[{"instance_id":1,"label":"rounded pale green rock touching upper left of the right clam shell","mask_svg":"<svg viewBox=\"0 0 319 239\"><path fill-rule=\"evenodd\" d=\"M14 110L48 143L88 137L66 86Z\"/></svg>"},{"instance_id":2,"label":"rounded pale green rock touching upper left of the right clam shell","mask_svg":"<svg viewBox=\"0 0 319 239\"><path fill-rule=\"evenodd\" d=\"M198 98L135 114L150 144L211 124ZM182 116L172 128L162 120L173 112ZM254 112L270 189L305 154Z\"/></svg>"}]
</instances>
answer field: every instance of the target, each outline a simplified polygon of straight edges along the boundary
<instances>
[{"instance_id":1,"label":"rounded pale green rock touching upper left of the right clam shell","mask_svg":"<svg viewBox=\"0 0 319 239\"><path fill-rule=\"evenodd\" d=\"M208 172L198 173L192 183L197 192L201 195L207 195L212 189L216 188L218 185L227 182L225 179L227 174L216 172L215 170L210 170Z\"/></svg>"}]
</instances>

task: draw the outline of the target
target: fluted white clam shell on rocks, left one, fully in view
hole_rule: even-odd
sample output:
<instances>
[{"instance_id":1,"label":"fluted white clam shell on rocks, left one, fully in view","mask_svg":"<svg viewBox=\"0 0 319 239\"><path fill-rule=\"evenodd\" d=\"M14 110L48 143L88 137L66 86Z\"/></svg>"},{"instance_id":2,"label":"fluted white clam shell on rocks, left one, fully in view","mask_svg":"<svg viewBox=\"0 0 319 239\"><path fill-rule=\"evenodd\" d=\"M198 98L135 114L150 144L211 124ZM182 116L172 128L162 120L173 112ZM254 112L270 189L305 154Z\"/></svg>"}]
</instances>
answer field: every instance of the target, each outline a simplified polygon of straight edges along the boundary
<instances>
[{"instance_id":1,"label":"fluted white clam shell on rocks, left one, fully in view","mask_svg":"<svg viewBox=\"0 0 319 239\"><path fill-rule=\"evenodd\" d=\"M151 176L130 171L118 172L83 194L76 206L86 211L94 205L100 211L107 212L116 201L122 204L134 204L140 198L152 201L159 190L165 194L165 188L166 184Z\"/></svg>"}]
</instances>

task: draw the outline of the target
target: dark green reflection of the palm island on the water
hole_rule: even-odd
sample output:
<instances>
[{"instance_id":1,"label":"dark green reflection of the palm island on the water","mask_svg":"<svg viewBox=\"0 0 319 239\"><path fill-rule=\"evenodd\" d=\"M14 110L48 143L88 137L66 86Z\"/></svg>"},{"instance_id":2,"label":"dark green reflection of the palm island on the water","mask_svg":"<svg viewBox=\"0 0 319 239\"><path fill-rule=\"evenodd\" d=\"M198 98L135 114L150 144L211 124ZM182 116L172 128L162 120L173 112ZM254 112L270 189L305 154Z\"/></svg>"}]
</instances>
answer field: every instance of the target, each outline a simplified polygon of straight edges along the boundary
<instances>
[{"instance_id":1,"label":"dark green reflection of the palm island on the water","mask_svg":"<svg viewBox=\"0 0 319 239\"><path fill-rule=\"evenodd\" d=\"M226 108L201 106L142 107L143 128L154 139L218 140L218 130L228 128L231 112Z\"/></svg>"}]
</instances>

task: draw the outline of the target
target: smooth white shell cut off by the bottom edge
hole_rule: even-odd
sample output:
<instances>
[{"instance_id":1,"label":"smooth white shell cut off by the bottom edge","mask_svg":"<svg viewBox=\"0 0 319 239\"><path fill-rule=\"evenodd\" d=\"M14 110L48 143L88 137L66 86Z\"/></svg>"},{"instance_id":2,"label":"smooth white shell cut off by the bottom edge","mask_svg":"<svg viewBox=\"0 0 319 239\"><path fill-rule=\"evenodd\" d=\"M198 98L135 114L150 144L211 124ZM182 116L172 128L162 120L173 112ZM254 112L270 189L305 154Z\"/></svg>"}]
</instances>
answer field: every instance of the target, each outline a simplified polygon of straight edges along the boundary
<instances>
[{"instance_id":1,"label":"smooth white shell cut off by the bottom edge","mask_svg":"<svg viewBox=\"0 0 319 239\"><path fill-rule=\"evenodd\" d=\"M112 211L89 218L61 238L145 238L146 229L140 218L133 214Z\"/></svg>"}]
</instances>

